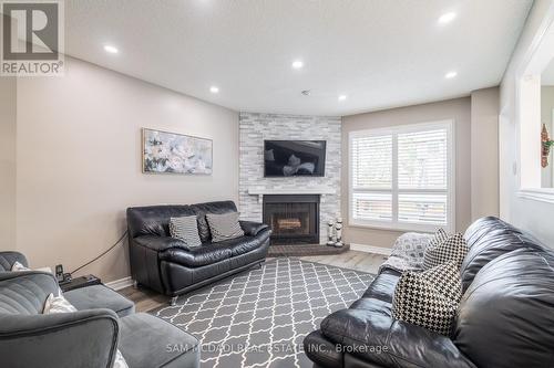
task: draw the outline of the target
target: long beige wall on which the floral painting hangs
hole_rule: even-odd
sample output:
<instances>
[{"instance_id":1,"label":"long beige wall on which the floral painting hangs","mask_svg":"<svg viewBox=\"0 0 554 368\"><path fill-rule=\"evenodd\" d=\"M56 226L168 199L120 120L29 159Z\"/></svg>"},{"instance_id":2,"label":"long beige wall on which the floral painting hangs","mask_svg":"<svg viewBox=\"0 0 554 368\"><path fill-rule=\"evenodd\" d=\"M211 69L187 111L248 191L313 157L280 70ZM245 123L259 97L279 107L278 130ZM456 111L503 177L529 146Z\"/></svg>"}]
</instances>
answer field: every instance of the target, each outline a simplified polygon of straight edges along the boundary
<instances>
[{"instance_id":1,"label":"long beige wall on which the floral painting hangs","mask_svg":"<svg viewBox=\"0 0 554 368\"><path fill-rule=\"evenodd\" d=\"M141 128L214 141L212 176L141 172ZM238 197L238 114L74 59L18 84L19 250L72 271L125 231L130 206ZM127 276L127 246L81 273Z\"/></svg>"}]
</instances>

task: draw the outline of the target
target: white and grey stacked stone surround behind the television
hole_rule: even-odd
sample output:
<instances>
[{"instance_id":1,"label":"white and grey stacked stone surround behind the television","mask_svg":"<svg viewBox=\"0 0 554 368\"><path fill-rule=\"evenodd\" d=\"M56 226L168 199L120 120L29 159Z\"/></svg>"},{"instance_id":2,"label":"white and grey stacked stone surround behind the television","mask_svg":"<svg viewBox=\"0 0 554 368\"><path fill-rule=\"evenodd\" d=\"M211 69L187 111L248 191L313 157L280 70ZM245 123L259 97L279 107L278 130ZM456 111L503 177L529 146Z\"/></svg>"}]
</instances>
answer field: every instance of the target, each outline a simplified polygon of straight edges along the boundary
<instances>
[{"instance_id":1,"label":"white and grey stacked stone surround behind the television","mask_svg":"<svg viewBox=\"0 0 554 368\"><path fill-rule=\"evenodd\" d=\"M242 218L261 221L263 204L248 189L328 188L320 198L320 242L327 241L327 222L340 217L341 118L240 113L239 115L239 211ZM264 178L264 140L326 140L325 177Z\"/></svg>"}]
</instances>

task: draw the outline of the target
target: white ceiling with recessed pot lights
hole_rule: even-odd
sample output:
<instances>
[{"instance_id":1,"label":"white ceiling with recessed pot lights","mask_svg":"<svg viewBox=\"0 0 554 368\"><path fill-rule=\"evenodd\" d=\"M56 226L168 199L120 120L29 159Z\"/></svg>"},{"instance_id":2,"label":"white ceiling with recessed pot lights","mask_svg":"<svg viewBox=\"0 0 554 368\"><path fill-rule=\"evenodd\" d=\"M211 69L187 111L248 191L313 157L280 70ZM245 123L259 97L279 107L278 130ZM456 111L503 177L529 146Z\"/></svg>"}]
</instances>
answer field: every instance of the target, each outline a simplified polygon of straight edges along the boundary
<instances>
[{"instance_id":1,"label":"white ceiling with recessed pot lights","mask_svg":"<svg viewBox=\"0 0 554 368\"><path fill-rule=\"evenodd\" d=\"M349 115L497 85L531 4L72 0L65 51L235 111ZM458 17L439 24L449 11ZM106 53L105 44L120 52ZM290 67L296 59L300 71ZM445 80L450 71L458 76ZM212 85L220 92L212 94ZM339 102L340 94L348 98Z\"/></svg>"}]
</instances>

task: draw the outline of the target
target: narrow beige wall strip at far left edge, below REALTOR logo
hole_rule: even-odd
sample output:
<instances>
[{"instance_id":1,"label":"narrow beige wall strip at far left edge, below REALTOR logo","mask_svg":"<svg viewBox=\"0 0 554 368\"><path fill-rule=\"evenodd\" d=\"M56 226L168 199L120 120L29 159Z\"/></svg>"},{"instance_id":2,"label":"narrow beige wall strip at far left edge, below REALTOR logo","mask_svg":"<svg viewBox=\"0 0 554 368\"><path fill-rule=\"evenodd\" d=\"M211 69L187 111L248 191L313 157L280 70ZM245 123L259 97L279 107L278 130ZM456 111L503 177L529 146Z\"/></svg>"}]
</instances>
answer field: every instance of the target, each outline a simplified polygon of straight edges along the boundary
<instances>
[{"instance_id":1,"label":"narrow beige wall strip at far left edge, below REALTOR logo","mask_svg":"<svg viewBox=\"0 0 554 368\"><path fill-rule=\"evenodd\" d=\"M0 77L0 250L16 250L16 91Z\"/></svg>"}]
</instances>

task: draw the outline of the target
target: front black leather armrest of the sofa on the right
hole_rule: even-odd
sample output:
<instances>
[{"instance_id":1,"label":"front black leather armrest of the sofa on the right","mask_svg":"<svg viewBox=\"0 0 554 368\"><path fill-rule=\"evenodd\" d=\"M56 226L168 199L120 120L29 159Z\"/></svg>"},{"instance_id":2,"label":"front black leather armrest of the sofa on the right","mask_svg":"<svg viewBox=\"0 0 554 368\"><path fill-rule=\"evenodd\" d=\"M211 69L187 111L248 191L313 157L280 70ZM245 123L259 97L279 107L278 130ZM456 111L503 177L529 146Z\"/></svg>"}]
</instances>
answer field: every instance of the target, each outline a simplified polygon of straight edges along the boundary
<instances>
[{"instance_id":1,"label":"front black leather armrest of the sofa on the right","mask_svg":"<svg viewBox=\"0 0 554 368\"><path fill-rule=\"evenodd\" d=\"M353 355L384 367L475 368L449 337L371 312L338 311L321 322L321 330Z\"/></svg>"}]
</instances>

